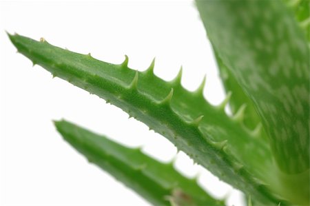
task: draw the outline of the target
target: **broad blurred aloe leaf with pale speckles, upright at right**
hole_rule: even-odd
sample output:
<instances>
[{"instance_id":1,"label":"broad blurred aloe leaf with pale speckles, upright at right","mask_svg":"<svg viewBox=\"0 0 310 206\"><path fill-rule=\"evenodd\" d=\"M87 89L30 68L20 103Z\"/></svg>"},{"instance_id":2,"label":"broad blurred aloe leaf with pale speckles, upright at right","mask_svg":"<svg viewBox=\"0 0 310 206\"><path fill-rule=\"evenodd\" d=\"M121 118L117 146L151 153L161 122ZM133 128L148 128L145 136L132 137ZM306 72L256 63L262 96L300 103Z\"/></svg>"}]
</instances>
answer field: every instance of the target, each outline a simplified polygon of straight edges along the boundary
<instances>
[{"instance_id":1,"label":"broad blurred aloe leaf with pale speckles, upright at right","mask_svg":"<svg viewBox=\"0 0 310 206\"><path fill-rule=\"evenodd\" d=\"M253 101L281 171L309 171L309 48L285 4L196 4L220 59Z\"/></svg>"}]
</instances>

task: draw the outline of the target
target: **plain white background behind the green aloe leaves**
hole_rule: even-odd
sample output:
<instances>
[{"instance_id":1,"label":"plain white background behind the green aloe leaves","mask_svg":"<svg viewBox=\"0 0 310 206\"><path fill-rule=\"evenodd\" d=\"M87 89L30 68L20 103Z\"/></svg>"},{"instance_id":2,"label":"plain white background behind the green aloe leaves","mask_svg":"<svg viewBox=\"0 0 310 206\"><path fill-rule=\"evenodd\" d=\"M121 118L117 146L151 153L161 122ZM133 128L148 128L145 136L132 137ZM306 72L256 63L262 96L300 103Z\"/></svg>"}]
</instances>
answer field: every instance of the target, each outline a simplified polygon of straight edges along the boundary
<instances>
[{"instance_id":1,"label":"plain white background behind the green aloe leaves","mask_svg":"<svg viewBox=\"0 0 310 206\"><path fill-rule=\"evenodd\" d=\"M10 43L4 30L111 63L145 70L156 56L155 73L165 80L183 65L182 83L194 90L207 74L206 98L224 98L216 63L192 1L1 1L0 2L0 205L149 205L109 174L87 163L56 132L52 120L67 119L106 134L160 161L176 148L162 136L99 97L52 79ZM241 194L182 152L176 169L200 173L211 195L242 205Z\"/></svg>"}]
</instances>

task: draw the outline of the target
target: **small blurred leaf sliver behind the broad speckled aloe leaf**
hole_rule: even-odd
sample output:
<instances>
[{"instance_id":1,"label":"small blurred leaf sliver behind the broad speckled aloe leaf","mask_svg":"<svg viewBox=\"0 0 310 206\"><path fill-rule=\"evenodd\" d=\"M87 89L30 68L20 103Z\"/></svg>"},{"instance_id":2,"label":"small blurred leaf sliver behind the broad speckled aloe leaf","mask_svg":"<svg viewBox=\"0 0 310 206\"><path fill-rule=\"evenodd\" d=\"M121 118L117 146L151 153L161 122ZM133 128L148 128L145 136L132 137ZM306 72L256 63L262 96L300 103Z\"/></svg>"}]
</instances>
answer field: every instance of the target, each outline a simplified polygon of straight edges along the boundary
<instances>
[{"instance_id":1,"label":"small blurred leaf sliver behind the broad speckled aloe leaf","mask_svg":"<svg viewBox=\"0 0 310 206\"><path fill-rule=\"evenodd\" d=\"M258 116L253 103L245 94L245 92L243 92L242 88L240 87L234 76L231 74L231 72L228 70L226 65L223 63L223 61L220 59L220 56L218 56L215 50L214 54L218 63L220 78L222 79L227 95L229 95L229 92L231 92L231 98L229 99L229 107L231 109L231 112L233 114L236 114L240 107L245 105L245 117L243 123L251 130L254 130L255 128L259 130L259 128L261 127L260 117Z\"/></svg>"}]
</instances>

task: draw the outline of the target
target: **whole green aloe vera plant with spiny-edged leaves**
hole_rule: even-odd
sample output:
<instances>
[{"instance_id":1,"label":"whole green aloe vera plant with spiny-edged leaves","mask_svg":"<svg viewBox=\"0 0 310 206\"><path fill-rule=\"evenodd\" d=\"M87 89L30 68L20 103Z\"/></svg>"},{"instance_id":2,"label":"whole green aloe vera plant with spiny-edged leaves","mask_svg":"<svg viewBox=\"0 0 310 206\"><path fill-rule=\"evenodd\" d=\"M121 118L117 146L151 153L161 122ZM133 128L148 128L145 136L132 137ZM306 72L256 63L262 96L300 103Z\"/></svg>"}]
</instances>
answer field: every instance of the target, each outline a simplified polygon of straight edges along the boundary
<instances>
[{"instance_id":1,"label":"whole green aloe vera plant with spiny-edged leaves","mask_svg":"<svg viewBox=\"0 0 310 206\"><path fill-rule=\"evenodd\" d=\"M34 64L96 94L165 136L253 205L309 205L309 1L197 0L227 99L154 75L10 35ZM276 25L274 19L277 19ZM229 104L232 116L225 112ZM224 205L194 180L139 150L67 121L56 129L92 163L154 205ZM251 205L249 201L249 205Z\"/></svg>"}]
</instances>

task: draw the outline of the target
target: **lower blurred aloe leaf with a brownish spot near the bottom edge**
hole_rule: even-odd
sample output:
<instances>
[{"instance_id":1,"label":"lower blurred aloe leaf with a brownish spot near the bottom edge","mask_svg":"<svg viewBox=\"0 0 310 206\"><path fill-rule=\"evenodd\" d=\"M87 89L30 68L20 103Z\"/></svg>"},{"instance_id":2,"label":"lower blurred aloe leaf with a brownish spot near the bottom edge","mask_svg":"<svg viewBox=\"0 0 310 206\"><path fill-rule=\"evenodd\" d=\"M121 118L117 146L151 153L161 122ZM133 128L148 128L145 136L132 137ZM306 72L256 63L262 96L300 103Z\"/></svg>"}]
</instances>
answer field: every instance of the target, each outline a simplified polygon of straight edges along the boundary
<instances>
[{"instance_id":1,"label":"lower blurred aloe leaf with a brownish spot near the bottom edge","mask_svg":"<svg viewBox=\"0 0 310 206\"><path fill-rule=\"evenodd\" d=\"M90 163L109 172L154 205L225 205L196 183L176 172L172 163L160 163L139 149L124 147L68 121L55 121L65 141Z\"/></svg>"}]
</instances>

